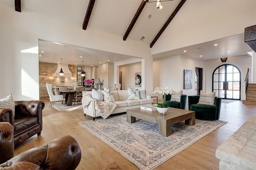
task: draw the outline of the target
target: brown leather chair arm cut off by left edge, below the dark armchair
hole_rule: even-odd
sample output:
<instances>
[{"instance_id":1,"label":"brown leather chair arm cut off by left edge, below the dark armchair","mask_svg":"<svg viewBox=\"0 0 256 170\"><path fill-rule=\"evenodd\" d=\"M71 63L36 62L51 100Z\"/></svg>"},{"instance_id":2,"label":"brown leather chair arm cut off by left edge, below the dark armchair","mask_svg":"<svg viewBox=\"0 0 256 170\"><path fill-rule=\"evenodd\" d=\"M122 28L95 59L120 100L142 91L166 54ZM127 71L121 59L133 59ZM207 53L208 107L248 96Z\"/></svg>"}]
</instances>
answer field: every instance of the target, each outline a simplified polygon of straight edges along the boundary
<instances>
[{"instance_id":1,"label":"brown leather chair arm cut off by left edge, below the dark armchair","mask_svg":"<svg viewBox=\"0 0 256 170\"><path fill-rule=\"evenodd\" d=\"M14 156L14 127L8 122L0 122L0 164Z\"/></svg>"}]
</instances>

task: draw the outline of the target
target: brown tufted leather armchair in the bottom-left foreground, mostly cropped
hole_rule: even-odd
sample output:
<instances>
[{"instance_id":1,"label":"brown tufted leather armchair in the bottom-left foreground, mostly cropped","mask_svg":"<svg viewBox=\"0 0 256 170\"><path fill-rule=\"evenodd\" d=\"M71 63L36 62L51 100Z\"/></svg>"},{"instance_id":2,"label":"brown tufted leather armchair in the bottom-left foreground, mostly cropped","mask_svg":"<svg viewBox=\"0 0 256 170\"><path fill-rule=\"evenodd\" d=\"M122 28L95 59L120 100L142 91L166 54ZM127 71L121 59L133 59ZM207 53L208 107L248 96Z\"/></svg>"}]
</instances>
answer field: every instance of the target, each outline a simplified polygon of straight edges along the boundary
<instances>
[{"instance_id":1,"label":"brown tufted leather armchair in the bottom-left foreground, mostly cropped","mask_svg":"<svg viewBox=\"0 0 256 170\"><path fill-rule=\"evenodd\" d=\"M70 135L59 137L44 146L32 148L13 157L12 130L10 123L0 122L0 170L74 170L81 160L78 142Z\"/></svg>"}]
</instances>

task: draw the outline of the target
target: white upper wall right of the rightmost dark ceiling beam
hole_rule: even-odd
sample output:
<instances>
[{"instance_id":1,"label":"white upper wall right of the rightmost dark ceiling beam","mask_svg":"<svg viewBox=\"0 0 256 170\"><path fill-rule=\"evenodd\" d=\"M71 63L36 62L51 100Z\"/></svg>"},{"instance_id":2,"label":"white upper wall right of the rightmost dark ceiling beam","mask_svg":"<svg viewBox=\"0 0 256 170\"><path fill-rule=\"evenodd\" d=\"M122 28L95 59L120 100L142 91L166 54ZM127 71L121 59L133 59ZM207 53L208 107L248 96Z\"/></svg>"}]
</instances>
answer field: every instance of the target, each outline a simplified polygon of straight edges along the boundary
<instances>
[{"instance_id":1,"label":"white upper wall right of the rightmost dark ceiling beam","mask_svg":"<svg viewBox=\"0 0 256 170\"><path fill-rule=\"evenodd\" d=\"M255 23L255 0L187 0L152 54L242 34Z\"/></svg>"}]
</instances>

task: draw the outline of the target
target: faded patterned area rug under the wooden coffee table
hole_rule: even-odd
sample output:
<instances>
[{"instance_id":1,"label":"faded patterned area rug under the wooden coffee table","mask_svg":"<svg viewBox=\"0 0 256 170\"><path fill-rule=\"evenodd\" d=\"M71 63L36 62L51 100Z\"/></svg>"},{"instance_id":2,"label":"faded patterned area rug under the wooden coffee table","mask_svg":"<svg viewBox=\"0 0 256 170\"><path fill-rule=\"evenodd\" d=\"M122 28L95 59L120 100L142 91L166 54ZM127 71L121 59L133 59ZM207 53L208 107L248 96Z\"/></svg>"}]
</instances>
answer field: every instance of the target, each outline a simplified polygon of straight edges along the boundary
<instances>
[{"instance_id":1,"label":"faded patterned area rug under the wooden coffee table","mask_svg":"<svg viewBox=\"0 0 256 170\"><path fill-rule=\"evenodd\" d=\"M126 114L78 123L122 154L141 170L152 170L178 154L216 128L225 125L224 121L202 121L196 125L184 122L172 125L172 135L158 134L158 125L136 119L127 123Z\"/></svg>"}]
</instances>

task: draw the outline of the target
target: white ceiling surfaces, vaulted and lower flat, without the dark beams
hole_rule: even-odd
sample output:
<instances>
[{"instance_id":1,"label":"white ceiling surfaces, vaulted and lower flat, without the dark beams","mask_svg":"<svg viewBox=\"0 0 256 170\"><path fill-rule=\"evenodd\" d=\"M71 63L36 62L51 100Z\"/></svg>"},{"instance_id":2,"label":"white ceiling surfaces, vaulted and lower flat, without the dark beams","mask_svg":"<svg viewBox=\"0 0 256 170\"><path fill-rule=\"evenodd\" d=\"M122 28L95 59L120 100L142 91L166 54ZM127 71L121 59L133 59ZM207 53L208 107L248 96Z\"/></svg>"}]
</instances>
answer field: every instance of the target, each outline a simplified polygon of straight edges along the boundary
<instances>
[{"instance_id":1,"label":"white ceiling surfaces, vaulted and lower flat, without the dark beams","mask_svg":"<svg viewBox=\"0 0 256 170\"><path fill-rule=\"evenodd\" d=\"M123 38L141 1L142 0L96 0L87 28L102 30ZM145 39L143 43L149 46L179 2L180 0L162 2L163 8L161 10L156 9L156 3L147 3L134 25L134 28L130 32L128 39L141 42L140 38L144 36ZM26 9L42 13L56 20L64 20L67 23L71 22L80 26L82 29L88 3L89 0L22 0L22 10ZM184 6L186 6L186 3L187 2L185 2ZM181 8L179 12L184 11ZM151 15L151 18L148 17L149 15ZM218 45L214 46L215 43ZM62 63L77 63L78 65L82 65L82 61L84 61L84 65L99 65L100 62L105 63L108 60L115 62L132 58L132 56L110 53L108 51L75 47L68 44L59 45L48 41L39 41L38 44L39 53L40 51L45 51L42 57L39 57L39 61L42 62L56 63L60 61L60 58L63 58ZM184 53L184 50L187 52ZM230 51L230 53L227 53L227 51ZM153 59L185 55L201 60L208 60L220 57L246 55L248 51L252 50L244 43L244 34L239 34L154 54ZM202 57L199 57L200 55L202 55ZM80 58L80 56L83 56L83 58Z\"/></svg>"}]
</instances>

